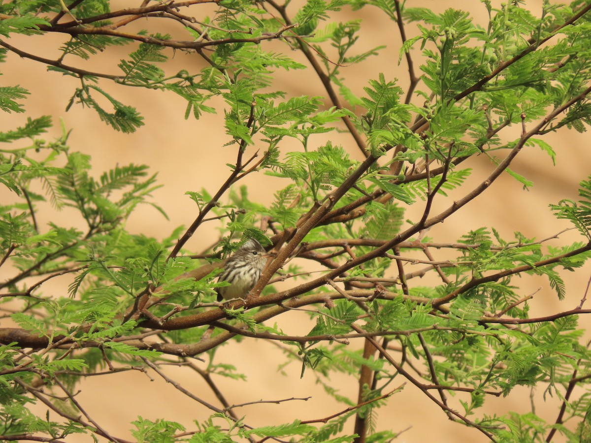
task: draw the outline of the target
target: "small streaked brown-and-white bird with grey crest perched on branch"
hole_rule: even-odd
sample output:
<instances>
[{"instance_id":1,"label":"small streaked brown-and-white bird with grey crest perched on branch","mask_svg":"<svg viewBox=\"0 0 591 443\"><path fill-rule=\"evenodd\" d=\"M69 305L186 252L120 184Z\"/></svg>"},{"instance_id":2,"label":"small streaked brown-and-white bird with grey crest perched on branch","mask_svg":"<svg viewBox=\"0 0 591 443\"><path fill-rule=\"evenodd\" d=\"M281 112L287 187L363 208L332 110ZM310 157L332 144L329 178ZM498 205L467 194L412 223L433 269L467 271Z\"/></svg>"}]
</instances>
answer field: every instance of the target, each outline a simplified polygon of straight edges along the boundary
<instances>
[{"instance_id":1,"label":"small streaked brown-and-white bird with grey crest perched on branch","mask_svg":"<svg viewBox=\"0 0 591 443\"><path fill-rule=\"evenodd\" d=\"M267 263L269 254L265 252L261 243L255 239L248 239L228 259L217 281L226 281L230 286L216 288L217 301L232 298L245 298L258 279L261 278L262 268Z\"/></svg>"}]
</instances>

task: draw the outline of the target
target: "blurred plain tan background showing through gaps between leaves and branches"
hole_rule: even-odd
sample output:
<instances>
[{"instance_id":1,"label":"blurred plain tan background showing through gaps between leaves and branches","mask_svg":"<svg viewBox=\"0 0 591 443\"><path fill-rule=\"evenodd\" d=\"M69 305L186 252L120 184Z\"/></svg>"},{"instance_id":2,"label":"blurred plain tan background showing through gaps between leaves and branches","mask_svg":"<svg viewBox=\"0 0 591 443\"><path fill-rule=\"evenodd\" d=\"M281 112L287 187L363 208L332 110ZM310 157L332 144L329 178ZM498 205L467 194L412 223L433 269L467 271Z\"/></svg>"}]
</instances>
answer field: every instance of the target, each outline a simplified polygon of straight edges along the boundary
<instances>
[{"instance_id":1,"label":"blurred plain tan background showing through gaps between leaves and branches","mask_svg":"<svg viewBox=\"0 0 591 443\"><path fill-rule=\"evenodd\" d=\"M119 1L112 2L112 8L121 6L137 6L138 2ZM448 7L456 7L469 10L476 21L485 23L486 10L477 0L463 2L449 2L444 0L416 0L407 2L408 6L424 6L434 11L443 11ZM499 1L493 1L498 6ZM535 14L540 14L541 0L530 0L528 6ZM209 6L203 6L206 10ZM291 14L295 14L297 8L291 6ZM194 15L199 14L199 9L193 6L190 11ZM378 73L383 72L387 80L400 79L402 87L408 84L408 74L404 60L398 66L398 51L400 49L400 37L397 28L389 22L383 14L371 6L362 11L352 12L345 9L342 14L335 16L340 21L345 19L361 18L362 32L357 48L358 53L378 45L387 44L388 48L382 50L378 57L371 57L360 64L355 64L342 69L342 75L347 77L348 86L353 92L362 95L362 87L368 79L374 79ZM148 22L138 21L136 28L147 27ZM171 24L170 30L159 28L160 32L166 31L175 34L176 28ZM416 35L413 24L407 25L409 37ZM56 59L63 36L46 35L43 37L13 38L10 43L21 50L28 51L43 57ZM104 54L95 57L91 63L83 63L75 57L67 57L66 63L85 69L98 69L107 73L117 73L119 58L126 57L129 48L112 48ZM287 51L287 48L277 42L264 43L263 48L275 51ZM415 63L420 58L418 51L413 52ZM170 53L169 53L170 55ZM298 53L289 53L297 60L303 61ZM166 67L168 72L175 72L180 66L192 66L193 71L200 69L202 61L199 56L189 56L177 52ZM418 63L417 63L418 64ZM418 67L418 66L417 66ZM138 88L125 88L109 82L100 82L109 93L126 105L136 106L142 113L145 126L137 132L129 135L118 133L99 120L93 110L83 109L74 105L69 112L64 109L74 88L79 86L73 77L63 77L58 73L46 72L46 67L35 61L21 59L14 54L9 54L8 63L2 68L4 76L0 78L0 84L20 84L30 90L31 96L25 101L27 115L38 117L51 115L54 119L53 130L47 135L48 139L59 136L59 121L63 120L67 129L73 132L69 138L69 145L73 150L82 151L92 155L93 171L98 177L100 173L115 164L148 164L152 172L158 172L158 183L164 184L155 192L155 200L164 208L170 221L165 220L161 214L148 206L139 207L128 222L128 229L132 233L143 233L159 239L168 236L170 232L181 224L188 226L196 217L196 207L184 196L185 191L199 191L202 187L210 193L217 190L229 174L226 162L233 162L235 149L224 147L229 141L223 128L223 112L219 107L217 115L205 114L202 119L184 120L185 104L169 93L144 91ZM325 95L322 84L314 77L311 71L280 72L277 76L276 89L285 90L289 95ZM221 100L213 103L223 106ZM14 128L24 123L24 116L11 114L3 115L2 130ZM509 128L505 131L505 137L513 139L518 136L520 128ZM354 158L361 159L358 149L352 139L346 134L332 132L327 136L318 136L312 140L313 145L320 146L327 139L335 144L344 146ZM537 148L524 149L512 168L519 174L525 175L534 181L535 185L529 191L522 190L521 184L508 175L499 178L491 188L470 205L456 213L446 223L436 226L428 233L428 236L441 242L453 242L469 229L480 226L494 226L505 237L512 239L512 233L519 231L526 236L543 239L550 237L560 230L570 227L567 222L556 220L548 209L548 204L556 203L561 198L576 198L580 180L591 172L591 150L589 138L586 134L574 131L561 131L545 137L545 140L554 146L557 151L557 167L553 167L551 159ZM254 152L262 146L249 148L248 152ZM300 149L297 144L282 144L282 149L287 152L292 149ZM488 174L493 165L486 158L475 157L465 162L462 167L472 167L475 172L465 184L464 190L460 189L450 194L449 198L436 200L433 213L449 206L452 199L462 196L471 184L482 180L483 174ZM269 203L274 192L285 186L285 181L268 177L263 174L251 175L245 183L251 191L254 201ZM2 194L5 198L6 194ZM8 196L9 197L9 196ZM420 205L419 205L420 206ZM416 209L422 210L421 207ZM413 215L413 210L408 214ZM73 219L72 213L67 210L59 214L63 217L63 223L71 223L73 226L82 227L82 220ZM40 226L47 226L50 219L55 218L54 213L40 213ZM186 245L187 249L201 252L204 247L212 244L217 238L216 225L206 224ZM560 239L552 240L550 244L563 245L574 239L579 239L576 233L562 234ZM580 239L582 240L582 239ZM411 269L408 265L407 269ZM420 266L420 265L417 265ZM555 312L569 310L579 303L584 293L584 288L591 274L591 266L587 265L577 272L563 272L563 278L567 284L568 296L559 302L556 293L550 288L548 281L543 278L522 278L519 282L523 295L535 294L530 305L531 315L548 315ZM1 277L4 279L4 276ZM517 283L518 281L516 281ZM54 282L53 286L44 286L44 295L55 297L65 296L69 281L66 279ZM413 285L427 284L428 282L412 282ZM279 319L278 319L279 320ZM311 327L309 320L301 313L283 315L280 319L281 327L288 334L306 334ZM306 324L302 324L302 323ZM580 319L580 325L586 327L589 323L587 317ZM8 324L6 324L8 325ZM361 343L353 343L352 346L361 346ZM263 426L291 422L294 419L317 419L331 415L345 409L345 405L336 403L325 395L322 387L316 385L315 375L307 370L303 379L300 379L300 366L292 363L282 371L278 370L278 349L274 344L264 343L252 339L243 340L242 343L229 343L219 351L219 360L232 362L238 372L248 376L248 385L235 383L228 380L218 380L223 392L230 403L250 402L259 399L276 400L291 397L312 396L307 402L292 401L274 404L259 404L237 409L238 415L246 415L246 422L252 426ZM261 361L268 364L261 365ZM204 367L203 363L199 363ZM215 396L205 383L194 372L188 369L170 367L168 376L181 382L184 387L195 395L208 402L218 405ZM193 429L192 421L203 421L210 412L184 396L172 386L167 385L157 374L151 373L154 381L137 372L112 374L104 377L89 377L80 385L78 400L87 409L87 412L102 426L112 432L113 435L122 438L131 438L129 434L129 422L141 415L144 418L165 419L181 422L189 429ZM335 381L335 380L333 380ZM394 386L400 385L404 380L400 379ZM108 385L105 385L108 383ZM356 398L357 385L355 380L346 376L340 376L337 380L340 393ZM108 389L106 389L108 387ZM532 393L533 398L539 400L543 395L543 388L538 388ZM462 398L460 396L460 398ZM460 407L457 400L450 401ZM538 402L536 413L550 421L554 421L558 413L559 400L556 396L547 396L547 404ZM44 413L45 408L38 408ZM508 398L488 398L486 400L486 413L504 414L508 411L531 411L530 390L515 390ZM413 386L407 385L405 389L393 396L388 401L388 406L378 409L377 423L379 429L391 429L402 431L410 428L398 439L400 442L424 442L433 441L441 443L485 441L482 434L475 429L465 428L463 425L450 422L446 415L434 403L430 402L423 393ZM221 422L219 423L222 424ZM352 432L352 422L345 432ZM73 437L68 441L90 441L90 438ZM560 441L555 438L554 441Z\"/></svg>"}]
</instances>

